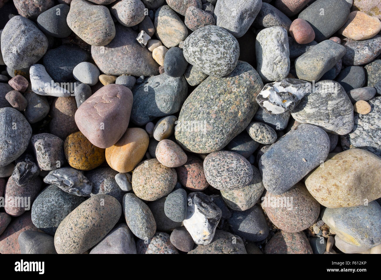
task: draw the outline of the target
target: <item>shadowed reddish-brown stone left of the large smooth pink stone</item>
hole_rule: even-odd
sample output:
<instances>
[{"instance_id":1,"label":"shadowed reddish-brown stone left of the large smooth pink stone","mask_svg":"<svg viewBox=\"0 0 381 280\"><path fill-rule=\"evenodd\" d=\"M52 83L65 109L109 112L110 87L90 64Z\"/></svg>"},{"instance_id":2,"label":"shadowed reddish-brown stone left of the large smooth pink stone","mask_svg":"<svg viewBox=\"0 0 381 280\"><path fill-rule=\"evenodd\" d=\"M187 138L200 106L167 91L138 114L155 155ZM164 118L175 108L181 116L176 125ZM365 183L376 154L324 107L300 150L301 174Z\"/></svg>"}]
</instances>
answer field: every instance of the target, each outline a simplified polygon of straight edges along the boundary
<instances>
[{"instance_id":1,"label":"shadowed reddish-brown stone left of the large smooth pink stone","mask_svg":"<svg viewBox=\"0 0 381 280\"><path fill-rule=\"evenodd\" d=\"M50 133L65 140L69 134L78 131L74 120L76 111L77 102L74 96L54 99L50 106L50 115L52 117Z\"/></svg>"}]
</instances>

